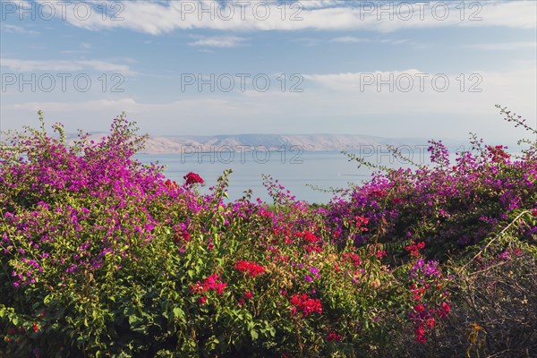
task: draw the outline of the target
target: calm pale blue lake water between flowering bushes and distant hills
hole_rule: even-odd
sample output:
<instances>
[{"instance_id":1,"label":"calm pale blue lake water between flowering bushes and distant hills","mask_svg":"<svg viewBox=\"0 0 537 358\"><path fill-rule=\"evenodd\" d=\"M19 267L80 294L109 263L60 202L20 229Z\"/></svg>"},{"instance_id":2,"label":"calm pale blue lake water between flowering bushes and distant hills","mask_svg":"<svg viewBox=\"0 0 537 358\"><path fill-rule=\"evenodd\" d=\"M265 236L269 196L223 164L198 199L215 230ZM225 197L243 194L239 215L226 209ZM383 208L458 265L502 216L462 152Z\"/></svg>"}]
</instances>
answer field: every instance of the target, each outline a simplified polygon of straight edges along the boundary
<instances>
[{"instance_id":1,"label":"calm pale blue lake water between flowering bushes and distant hills","mask_svg":"<svg viewBox=\"0 0 537 358\"><path fill-rule=\"evenodd\" d=\"M226 169L233 169L230 176L228 193L230 199L239 199L243 192L251 189L252 198L271 201L266 188L262 185L262 174L272 175L279 183L290 190L299 200L309 202L328 202L331 193L313 190L312 186L328 189L329 187L347 187L348 183L362 183L371 178L371 169L357 167L354 161L340 152L223 152L200 154L156 154L137 155L142 163L159 162L167 166L166 176L177 183L183 183L183 176L188 172L201 175L206 181L201 192L207 192L209 186L217 183L217 177ZM388 153L371 156L371 162L383 166L405 166L392 160Z\"/></svg>"}]
</instances>

